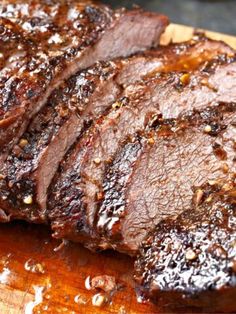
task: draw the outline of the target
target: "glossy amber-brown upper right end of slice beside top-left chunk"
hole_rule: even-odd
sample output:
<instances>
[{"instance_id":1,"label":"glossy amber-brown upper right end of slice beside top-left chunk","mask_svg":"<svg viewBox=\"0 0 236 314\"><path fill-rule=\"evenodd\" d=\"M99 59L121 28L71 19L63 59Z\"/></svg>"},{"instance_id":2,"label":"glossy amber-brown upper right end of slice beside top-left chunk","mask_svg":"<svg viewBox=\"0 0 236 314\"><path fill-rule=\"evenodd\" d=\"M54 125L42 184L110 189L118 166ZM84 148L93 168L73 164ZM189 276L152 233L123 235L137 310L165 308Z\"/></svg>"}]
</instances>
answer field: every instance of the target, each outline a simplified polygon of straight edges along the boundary
<instances>
[{"instance_id":1,"label":"glossy amber-brown upper right end of slice beside top-left chunk","mask_svg":"<svg viewBox=\"0 0 236 314\"><path fill-rule=\"evenodd\" d=\"M235 51L221 41L214 41L203 35L195 36L187 42L159 46L158 49L145 51L142 59L137 59L137 56L123 59L122 63L125 64L126 71L120 73L119 81L125 85L131 84L137 73L139 78L157 71L192 71L198 69L200 64L204 66L205 62L215 56L234 56L234 54ZM153 59L156 59L156 64L153 63Z\"/></svg>"}]
</instances>

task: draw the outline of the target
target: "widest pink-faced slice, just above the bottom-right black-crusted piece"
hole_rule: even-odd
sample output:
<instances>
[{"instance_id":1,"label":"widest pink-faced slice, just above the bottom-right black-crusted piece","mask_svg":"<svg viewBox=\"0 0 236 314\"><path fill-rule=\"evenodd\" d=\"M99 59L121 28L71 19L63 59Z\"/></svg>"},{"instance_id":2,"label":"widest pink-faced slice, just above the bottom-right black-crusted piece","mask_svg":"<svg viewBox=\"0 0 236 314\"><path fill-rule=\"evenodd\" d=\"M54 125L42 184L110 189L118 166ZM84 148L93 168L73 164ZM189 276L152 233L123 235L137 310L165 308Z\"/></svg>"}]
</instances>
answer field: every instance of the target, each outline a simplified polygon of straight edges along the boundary
<instances>
[{"instance_id":1,"label":"widest pink-faced slice, just above the bottom-right black-crusted piece","mask_svg":"<svg viewBox=\"0 0 236 314\"><path fill-rule=\"evenodd\" d=\"M150 138L141 148L140 139L132 143L140 155L135 162L131 159L133 168L117 175L111 186L115 165L107 174L108 181L104 180L104 203L97 223L103 234L102 246L135 255L157 223L188 209L195 191L201 196L198 188L205 181L215 182L235 173L236 108L232 106L233 111L222 117L218 112L203 112L203 116L210 114L204 124L201 117L197 122L195 114L192 119L196 121L190 124L163 125L151 138L151 145ZM130 159L120 164L124 162Z\"/></svg>"}]
</instances>

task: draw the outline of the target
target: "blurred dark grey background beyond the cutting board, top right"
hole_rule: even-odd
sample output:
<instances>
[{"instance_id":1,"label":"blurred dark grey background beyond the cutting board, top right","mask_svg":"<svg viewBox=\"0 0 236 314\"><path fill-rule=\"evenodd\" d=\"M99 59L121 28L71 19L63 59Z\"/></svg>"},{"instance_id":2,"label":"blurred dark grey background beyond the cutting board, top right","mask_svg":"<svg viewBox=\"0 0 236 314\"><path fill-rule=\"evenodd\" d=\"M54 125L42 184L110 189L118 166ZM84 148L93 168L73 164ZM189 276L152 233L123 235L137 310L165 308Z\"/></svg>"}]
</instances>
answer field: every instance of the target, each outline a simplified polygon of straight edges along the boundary
<instances>
[{"instance_id":1,"label":"blurred dark grey background beyond the cutting board, top right","mask_svg":"<svg viewBox=\"0 0 236 314\"><path fill-rule=\"evenodd\" d=\"M114 7L132 4L169 16L173 23L236 36L236 0L104 0Z\"/></svg>"}]
</instances>

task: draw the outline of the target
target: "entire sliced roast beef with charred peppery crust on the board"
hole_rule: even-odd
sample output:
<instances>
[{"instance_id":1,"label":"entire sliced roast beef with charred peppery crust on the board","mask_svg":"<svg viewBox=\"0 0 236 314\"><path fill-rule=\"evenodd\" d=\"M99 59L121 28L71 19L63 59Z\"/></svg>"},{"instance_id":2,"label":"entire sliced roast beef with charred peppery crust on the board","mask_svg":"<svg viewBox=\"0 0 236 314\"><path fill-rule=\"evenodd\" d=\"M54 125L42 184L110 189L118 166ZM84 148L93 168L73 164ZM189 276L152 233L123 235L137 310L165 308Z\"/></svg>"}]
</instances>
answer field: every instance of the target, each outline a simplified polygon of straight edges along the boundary
<instances>
[{"instance_id":1,"label":"entire sliced roast beef with charred peppery crust on the board","mask_svg":"<svg viewBox=\"0 0 236 314\"><path fill-rule=\"evenodd\" d=\"M0 4L0 222L135 256L165 311L236 311L236 53L97 1Z\"/></svg>"}]
</instances>

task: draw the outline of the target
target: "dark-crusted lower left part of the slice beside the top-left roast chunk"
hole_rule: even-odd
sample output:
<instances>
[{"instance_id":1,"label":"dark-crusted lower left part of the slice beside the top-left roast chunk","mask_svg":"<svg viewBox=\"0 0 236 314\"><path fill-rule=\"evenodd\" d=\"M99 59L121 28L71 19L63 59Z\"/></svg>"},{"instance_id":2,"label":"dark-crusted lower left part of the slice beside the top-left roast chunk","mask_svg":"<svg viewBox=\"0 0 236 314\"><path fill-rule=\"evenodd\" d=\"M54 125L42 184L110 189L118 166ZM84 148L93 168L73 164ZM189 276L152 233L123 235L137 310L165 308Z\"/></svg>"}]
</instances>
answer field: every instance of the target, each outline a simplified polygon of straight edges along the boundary
<instances>
[{"instance_id":1,"label":"dark-crusted lower left part of the slice beside the top-left roast chunk","mask_svg":"<svg viewBox=\"0 0 236 314\"><path fill-rule=\"evenodd\" d=\"M58 164L94 116L117 97L119 86L109 84L116 73L113 63L104 62L71 77L30 123L1 171L1 207L11 219L45 219L47 188ZM24 204L27 197L31 204Z\"/></svg>"}]
</instances>

